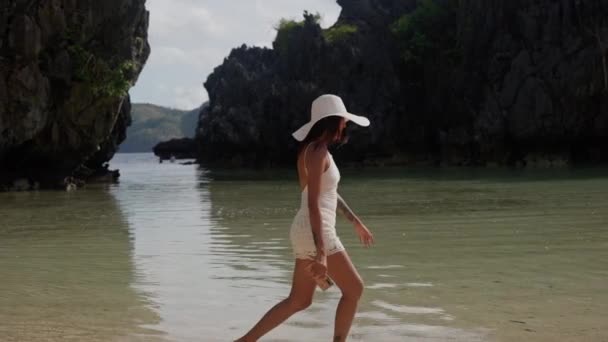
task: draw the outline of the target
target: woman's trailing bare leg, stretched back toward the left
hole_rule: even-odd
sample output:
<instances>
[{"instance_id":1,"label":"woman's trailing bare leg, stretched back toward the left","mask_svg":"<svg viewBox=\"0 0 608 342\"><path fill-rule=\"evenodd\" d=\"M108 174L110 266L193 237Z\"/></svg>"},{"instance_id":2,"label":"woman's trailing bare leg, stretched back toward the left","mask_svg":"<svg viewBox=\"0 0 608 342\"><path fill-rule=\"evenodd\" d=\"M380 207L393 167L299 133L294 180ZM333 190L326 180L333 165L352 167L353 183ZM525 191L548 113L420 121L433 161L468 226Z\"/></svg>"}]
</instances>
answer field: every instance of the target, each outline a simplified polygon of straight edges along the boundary
<instances>
[{"instance_id":1,"label":"woman's trailing bare leg, stretched back toward the left","mask_svg":"<svg viewBox=\"0 0 608 342\"><path fill-rule=\"evenodd\" d=\"M306 270L309 260L296 259L289 296L272 307L245 336L237 341L253 342L276 328L294 313L304 310L312 303L316 283Z\"/></svg>"}]
</instances>

